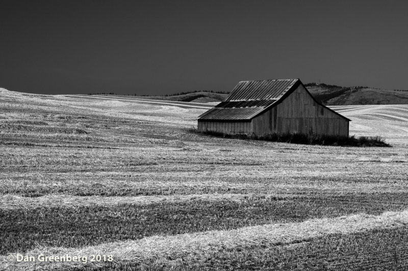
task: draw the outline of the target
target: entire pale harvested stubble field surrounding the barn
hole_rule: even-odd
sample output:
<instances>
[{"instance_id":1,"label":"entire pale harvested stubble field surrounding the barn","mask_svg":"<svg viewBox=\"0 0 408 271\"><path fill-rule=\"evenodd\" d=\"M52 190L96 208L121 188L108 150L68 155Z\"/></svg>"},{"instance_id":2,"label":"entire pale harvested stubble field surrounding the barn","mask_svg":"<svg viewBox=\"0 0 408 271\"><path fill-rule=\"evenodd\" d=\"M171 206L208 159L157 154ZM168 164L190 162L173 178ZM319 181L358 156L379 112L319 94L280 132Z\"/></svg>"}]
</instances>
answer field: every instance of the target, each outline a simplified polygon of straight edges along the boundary
<instances>
[{"instance_id":1,"label":"entire pale harvested stubble field surrounding the barn","mask_svg":"<svg viewBox=\"0 0 408 271\"><path fill-rule=\"evenodd\" d=\"M408 268L407 105L332 107L390 148L190 133L206 108L0 89L0 270Z\"/></svg>"}]
</instances>

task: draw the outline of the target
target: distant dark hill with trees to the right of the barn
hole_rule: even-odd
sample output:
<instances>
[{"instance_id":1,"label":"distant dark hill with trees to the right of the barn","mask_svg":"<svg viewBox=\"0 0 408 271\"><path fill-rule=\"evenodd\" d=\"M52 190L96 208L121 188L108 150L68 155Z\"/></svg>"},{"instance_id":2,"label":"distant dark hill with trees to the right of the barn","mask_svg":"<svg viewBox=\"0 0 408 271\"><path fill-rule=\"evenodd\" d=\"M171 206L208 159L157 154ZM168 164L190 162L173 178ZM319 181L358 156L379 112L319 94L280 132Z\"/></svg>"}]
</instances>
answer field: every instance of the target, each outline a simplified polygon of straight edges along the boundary
<instances>
[{"instance_id":1,"label":"distant dark hill with trees to the right of the barn","mask_svg":"<svg viewBox=\"0 0 408 271\"><path fill-rule=\"evenodd\" d=\"M305 84L316 100L325 105L408 104L408 91L387 91L368 86Z\"/></svg>"}]
</instances>

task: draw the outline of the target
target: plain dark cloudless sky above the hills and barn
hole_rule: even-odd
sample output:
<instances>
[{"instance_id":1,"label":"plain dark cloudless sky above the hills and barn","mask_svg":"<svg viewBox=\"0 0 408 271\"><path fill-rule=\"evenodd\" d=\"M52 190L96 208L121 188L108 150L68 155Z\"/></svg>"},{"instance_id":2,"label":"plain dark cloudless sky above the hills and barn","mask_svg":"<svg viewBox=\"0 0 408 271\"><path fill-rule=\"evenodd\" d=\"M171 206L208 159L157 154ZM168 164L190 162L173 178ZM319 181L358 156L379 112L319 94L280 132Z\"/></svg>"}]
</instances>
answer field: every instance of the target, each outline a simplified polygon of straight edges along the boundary
<instances>
[{"instance_id":1,"label":"plain dark cloudless sky above the hills and barn","mask_svg":"<svg viewBox=\"0 0 408 271\"><path fill-rule=\"evenodd\" d=\"M407 1L0 0L0 87L231 90L300 78L408 89Z\"/></svg>"}]
</instances>

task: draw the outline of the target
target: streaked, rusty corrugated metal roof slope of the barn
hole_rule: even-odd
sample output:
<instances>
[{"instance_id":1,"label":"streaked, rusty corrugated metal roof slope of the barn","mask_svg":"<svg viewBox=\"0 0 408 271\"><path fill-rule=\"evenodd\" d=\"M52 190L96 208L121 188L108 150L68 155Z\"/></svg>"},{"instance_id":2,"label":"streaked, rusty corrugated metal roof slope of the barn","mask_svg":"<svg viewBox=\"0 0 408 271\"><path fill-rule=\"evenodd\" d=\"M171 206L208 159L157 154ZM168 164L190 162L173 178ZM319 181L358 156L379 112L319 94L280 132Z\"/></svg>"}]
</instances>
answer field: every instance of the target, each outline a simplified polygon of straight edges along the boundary
<instances>
[{"instance_id":1,"label":"streaked, rusty corrugated metal roof slope of the barn","mask_svg":"<svg viewBox=\"0 0 408 271\"><path fill-rule=\"evenodd\" d=\"M251 119L282 98L297 80L241 81L224 102L201 114L198 119Z\"/></svg>"}]
</instances>

